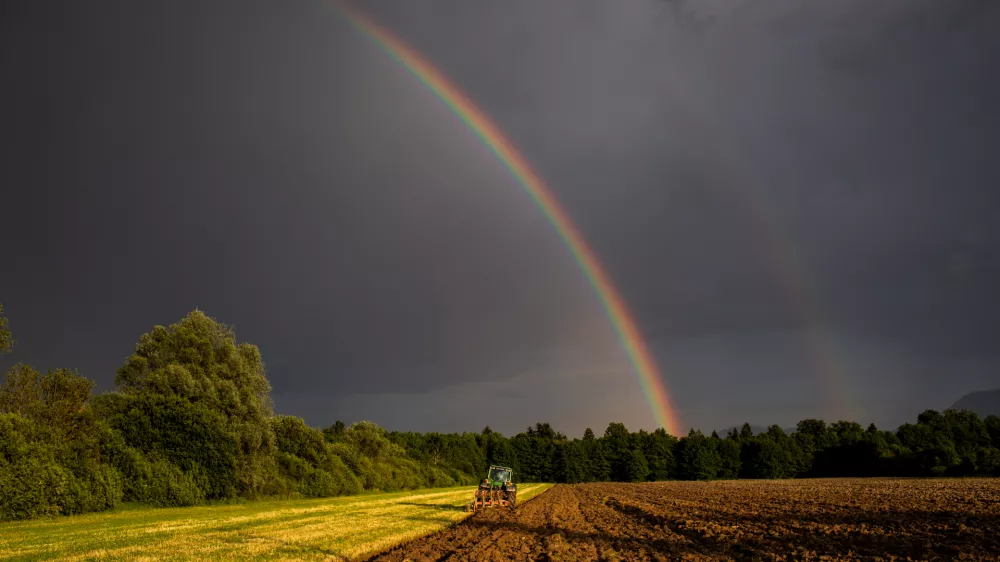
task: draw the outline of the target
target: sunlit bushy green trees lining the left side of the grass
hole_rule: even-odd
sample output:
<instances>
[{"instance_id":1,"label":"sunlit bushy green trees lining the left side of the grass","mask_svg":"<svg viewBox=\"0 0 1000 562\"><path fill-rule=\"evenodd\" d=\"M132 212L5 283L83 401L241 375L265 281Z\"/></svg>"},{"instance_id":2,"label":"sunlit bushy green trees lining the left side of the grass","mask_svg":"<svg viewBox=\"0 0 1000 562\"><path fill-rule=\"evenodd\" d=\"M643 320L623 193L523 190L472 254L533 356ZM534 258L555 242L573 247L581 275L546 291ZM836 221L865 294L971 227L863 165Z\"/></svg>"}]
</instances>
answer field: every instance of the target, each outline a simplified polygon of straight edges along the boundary
<instances>
[{"instance_id":1,"label":"sunlit bushy green trees lining the left side of the grass","mask_svg":"<svg viewBox=\"0 0 1000 562\"><path fill-rule=\"evenodd\" d=\"M0 309L2 313L2 309ZM0 316L2 318L2 316ZM13 339L0 321L0 346ZM0 520L260 497L472 484L370 422L320 430L275 415L260 351L194 311L143 334L115 390L15 365L0 384ZM480 467L481 468L481 467Z\"/></svg>"}]
</instances>

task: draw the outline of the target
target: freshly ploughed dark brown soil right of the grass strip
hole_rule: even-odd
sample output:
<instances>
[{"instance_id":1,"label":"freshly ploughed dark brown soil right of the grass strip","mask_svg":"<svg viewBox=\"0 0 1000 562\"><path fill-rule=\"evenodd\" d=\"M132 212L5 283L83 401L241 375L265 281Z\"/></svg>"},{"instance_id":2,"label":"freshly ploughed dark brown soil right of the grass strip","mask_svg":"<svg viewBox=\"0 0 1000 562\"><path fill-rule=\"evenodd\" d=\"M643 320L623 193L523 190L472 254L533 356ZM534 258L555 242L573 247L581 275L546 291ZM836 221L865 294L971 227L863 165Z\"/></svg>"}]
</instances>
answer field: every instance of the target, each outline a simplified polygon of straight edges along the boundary
<instances>
[{"instance_id":1,"label":"freshly ploughed dark brown soil right of the grass strip","mask_svg":"<svg viewBox=\"0 0 1000 562\"><path fill-rule=\"evenodd\" d=\"M559 485L372 560L1000 560L1000 480Z\"/></svg>"}]
</instances>

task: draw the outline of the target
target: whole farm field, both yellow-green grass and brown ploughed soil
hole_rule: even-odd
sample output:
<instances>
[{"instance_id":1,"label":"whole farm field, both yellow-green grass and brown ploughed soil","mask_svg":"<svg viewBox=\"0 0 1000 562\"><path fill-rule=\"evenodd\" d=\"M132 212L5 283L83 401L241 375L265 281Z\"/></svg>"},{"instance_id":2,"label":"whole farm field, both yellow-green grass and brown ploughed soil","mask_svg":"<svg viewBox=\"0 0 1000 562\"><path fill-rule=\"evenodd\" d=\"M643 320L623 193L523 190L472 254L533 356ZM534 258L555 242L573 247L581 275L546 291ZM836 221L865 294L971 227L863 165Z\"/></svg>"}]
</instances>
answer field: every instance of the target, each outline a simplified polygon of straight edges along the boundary
<instances>
[{"instance_id":1,"label":"whole farm field, both yellow-green grass and brown ploughed soil","mask_svg":"<svg viewBox=\"0 0 1000 562\"><path fill-rule=\"evenodd\" d=\"M997 479L527 484L516 511L469 517L471 495L465 487L4 523L0 558L1000 560Z\"/></svg>"}]
</instances>

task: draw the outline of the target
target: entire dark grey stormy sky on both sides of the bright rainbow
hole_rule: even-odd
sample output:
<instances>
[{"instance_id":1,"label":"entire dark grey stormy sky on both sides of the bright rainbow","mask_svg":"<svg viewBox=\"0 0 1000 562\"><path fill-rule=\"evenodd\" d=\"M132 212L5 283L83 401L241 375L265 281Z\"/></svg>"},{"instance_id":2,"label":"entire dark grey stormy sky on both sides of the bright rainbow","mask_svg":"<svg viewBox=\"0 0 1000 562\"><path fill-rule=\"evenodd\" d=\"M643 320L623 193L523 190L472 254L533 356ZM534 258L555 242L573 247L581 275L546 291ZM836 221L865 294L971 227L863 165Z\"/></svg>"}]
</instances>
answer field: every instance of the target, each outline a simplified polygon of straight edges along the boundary
<instances>
[{"instance_id":1,"label":"entire dark grey stormy sky on both sides of the bright rainbow","mask_svg":"<svg viewBox=\"0 0 1000 562\"><path fill-rule=\"evenodd\" d=\"M551 187L685 431L1000 387L995 1L357 6ZM4 2L0 76L0 367L110 390L198 307L313 425L655 427L542 213L331 4Z\"/></svg>"}]
</instances>

